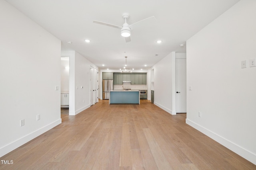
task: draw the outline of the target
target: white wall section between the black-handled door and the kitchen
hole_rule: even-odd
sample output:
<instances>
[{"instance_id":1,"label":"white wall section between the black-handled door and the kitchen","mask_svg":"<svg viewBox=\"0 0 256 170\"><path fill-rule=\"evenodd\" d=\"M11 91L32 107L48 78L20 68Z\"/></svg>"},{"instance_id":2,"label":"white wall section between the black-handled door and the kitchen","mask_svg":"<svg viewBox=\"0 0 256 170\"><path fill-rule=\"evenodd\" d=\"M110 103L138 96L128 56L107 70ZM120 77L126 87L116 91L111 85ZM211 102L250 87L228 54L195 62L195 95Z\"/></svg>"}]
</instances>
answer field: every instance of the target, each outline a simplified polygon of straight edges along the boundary
<instances>
[{"instance_id":1,"label":"white wall section between the black-handled door and the kitchen","mask_svg":"<svg viewBox=\"0 0 256 170\"><path fill-rule=\"evenodd\" d=\"M170 53L151 68L154 69L154 104L171 114L176 114L175 55Z\"/></svg>"}]
</instances>

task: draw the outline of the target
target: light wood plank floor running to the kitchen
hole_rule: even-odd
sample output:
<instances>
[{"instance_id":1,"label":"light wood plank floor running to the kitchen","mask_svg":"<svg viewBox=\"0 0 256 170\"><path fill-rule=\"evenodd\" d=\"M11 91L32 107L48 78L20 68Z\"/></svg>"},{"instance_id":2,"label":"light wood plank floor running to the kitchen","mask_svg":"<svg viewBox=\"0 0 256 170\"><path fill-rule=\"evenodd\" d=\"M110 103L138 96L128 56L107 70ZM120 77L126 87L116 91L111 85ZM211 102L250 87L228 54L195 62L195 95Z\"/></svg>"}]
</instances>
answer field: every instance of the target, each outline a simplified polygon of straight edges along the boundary
<instances>
[{"instance_id":1,"label":"light wood plank floor running to the kitchen","mask_svg":"<svg viewBox=\"0 0 256 170\"><path fill-rule=\"evenodd\" d=\"M255 170L256 165L147 100L100 100L1 157L4 170Z\"/></svg>"}]
</instances>

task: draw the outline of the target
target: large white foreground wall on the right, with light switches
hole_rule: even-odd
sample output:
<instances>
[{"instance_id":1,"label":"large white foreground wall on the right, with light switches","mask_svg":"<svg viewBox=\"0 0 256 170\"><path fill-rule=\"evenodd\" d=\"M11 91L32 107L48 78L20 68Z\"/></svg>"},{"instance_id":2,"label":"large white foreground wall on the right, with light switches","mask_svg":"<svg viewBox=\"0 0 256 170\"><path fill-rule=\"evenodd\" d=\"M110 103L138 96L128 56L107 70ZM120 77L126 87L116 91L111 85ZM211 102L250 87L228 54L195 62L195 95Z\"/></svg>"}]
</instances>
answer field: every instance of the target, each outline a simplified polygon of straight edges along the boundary
<instances>
[{"instance_id":1,"label":"large white foreground wall on the right, with light switches","mask_svg":"<svg viewBox=\"0 0 256 170\"><path fill-rule=\"evenodd\" d=\"M241 0L186 43L186 123L254 164L256 67L241 61L256 58L255 9Z\"/></svg>"}]
</instances>

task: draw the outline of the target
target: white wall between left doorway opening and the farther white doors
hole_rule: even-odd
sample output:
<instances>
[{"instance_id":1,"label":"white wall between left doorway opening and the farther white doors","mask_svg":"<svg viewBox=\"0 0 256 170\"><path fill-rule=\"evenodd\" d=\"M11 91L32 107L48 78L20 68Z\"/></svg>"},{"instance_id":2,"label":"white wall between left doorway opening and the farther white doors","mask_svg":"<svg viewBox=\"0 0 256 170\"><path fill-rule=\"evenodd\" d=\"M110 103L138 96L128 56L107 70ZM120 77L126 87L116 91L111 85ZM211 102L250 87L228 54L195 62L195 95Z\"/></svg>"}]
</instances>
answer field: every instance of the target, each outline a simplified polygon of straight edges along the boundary
<instances>
[{"instance_id":1,"label":"white wall between left doorway opening and the farther white doors","mask_svg":"<svg viewBox=\"0 0 256 170\"><path fill-rule=\"evenodd\" d=\"M61 56L70 57L69 115L76 115L91 106L90 66L98 67L76 51L61 51Z\"/></svg>"}]
</instances>

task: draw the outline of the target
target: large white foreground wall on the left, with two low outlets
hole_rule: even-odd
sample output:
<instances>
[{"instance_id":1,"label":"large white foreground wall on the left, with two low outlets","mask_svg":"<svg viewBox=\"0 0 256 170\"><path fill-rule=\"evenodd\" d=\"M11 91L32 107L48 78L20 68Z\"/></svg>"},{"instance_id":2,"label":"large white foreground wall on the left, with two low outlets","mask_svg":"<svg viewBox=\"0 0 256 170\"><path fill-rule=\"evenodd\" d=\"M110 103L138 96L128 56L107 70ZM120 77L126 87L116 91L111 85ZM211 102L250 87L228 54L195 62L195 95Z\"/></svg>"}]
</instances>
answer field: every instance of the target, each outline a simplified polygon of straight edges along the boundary
<instances>
[{"instance_id":1,"label":"large white foreground wall on the left, with two low outlets","mask_svg":"<svg viewBox=\"0 0 256 170\"><path fill-rule=\"evenodd\" d=\"M61 123L60 90L55 90L60 87L61 43L5 1L0 1L0 23L3 156Z\"/></svg>"}]
</instances>

